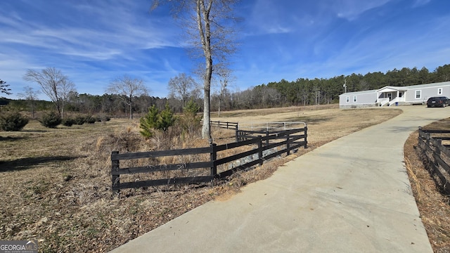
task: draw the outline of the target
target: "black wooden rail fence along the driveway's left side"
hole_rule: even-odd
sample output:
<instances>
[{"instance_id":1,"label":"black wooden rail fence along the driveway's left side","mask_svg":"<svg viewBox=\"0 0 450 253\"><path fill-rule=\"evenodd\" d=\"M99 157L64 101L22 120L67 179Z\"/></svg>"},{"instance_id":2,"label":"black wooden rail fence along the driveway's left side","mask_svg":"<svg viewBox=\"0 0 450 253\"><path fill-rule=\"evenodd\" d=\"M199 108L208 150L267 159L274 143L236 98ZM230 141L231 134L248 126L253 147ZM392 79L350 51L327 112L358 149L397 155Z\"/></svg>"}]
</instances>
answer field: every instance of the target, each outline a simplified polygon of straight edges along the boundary
<instances>
[{"instance_id":1,"label":"black wooden rail fence along the driveway's left side","mask_svg":"<svg viewBox=\"0 0 450 253\"><path fill-rule=\"evenodd\" d=\"M276 140L275 142L273 142ZM246 151L239 151L233 155L219 155L225 150L233 148L246 147ZM212 143L210 147L205 148L188 148L178 150L165 151L150 151L139 153L123 153L117 151L111 153L111 175L112 175L112 190L119 191L124 188L140 188L148 186L164 186L185 183L207 183L213 179L223 179L230 176L234 172L242 169L248 169L255 165L262 165L266 160L280 155L290 155L293 150L298 148L307 148L307 127L302 129L290 129L286 131L278 131L274 134L266 136L255 136L244 141L236 143L227 143L217 145ZM208 157L202 161L176 163L176 164L157 164L137 167L120 167L122 160L138 160L138 159L155 159L157 157L173 157L183 155L200 155ZM221 168L218 171L218 168ZM121 175L126 174L152 174L155 172L166 171L208 171L200 176L181 176L148 179L139 181L120 181ZM164 174L163 174L164 175Z\"/></svg>"}]
</instances>

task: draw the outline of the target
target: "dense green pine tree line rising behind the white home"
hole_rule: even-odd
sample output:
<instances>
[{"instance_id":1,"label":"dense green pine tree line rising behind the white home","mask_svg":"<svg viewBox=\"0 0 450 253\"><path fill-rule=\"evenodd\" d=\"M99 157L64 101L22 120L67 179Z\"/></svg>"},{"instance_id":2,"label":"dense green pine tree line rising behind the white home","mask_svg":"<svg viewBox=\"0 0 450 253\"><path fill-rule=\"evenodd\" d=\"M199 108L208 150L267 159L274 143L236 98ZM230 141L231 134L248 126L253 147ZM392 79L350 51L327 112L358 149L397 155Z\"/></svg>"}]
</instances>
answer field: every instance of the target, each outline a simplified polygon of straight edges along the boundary
<instances>
[{"instance_id":1,"label":"dense green pine tree line rising behind the white home","mask_svg":"<svg viewBox=\"0 0 450 253\"><path fill-rule=\"evenodd\" d=\"M430 72L404 67L401 70L368 72L367 74L340 75L329 79L298 78L288 82L269 82L240 91L227 98L230 109L266 108L290 105L320 105L339 103L339 95L345 92L380 89L384 86L411 86L450 80L450 65L437 67ZM224 107L223 109L228 109Z\"/></svg>"}]
</instances>

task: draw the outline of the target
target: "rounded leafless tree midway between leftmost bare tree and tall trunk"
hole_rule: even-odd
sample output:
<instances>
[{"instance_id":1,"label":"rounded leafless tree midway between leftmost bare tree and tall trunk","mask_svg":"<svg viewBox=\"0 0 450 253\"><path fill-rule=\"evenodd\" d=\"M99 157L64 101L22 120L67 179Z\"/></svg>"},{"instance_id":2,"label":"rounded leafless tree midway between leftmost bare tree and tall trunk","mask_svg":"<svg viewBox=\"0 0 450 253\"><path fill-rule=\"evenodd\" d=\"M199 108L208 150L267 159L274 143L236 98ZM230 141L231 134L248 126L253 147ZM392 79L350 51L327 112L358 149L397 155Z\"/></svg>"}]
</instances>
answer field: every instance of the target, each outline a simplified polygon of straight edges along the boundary
<instances>
[{"instance_id":1,"label":"rounded leafless tree midway between leftmost bare tree and tall trunk","mask_svg":"<svg viewBox=\"0 0 450 253\"><path fill-rule=\"evenodd\" d=\"M110 83L106 92L118 94L129 106L129 118L133 118L133 103L136 96L147 95L148 91L143 84L143 79L133 78L127 74L122 77L116 77Z\"/></svg>"}]
</instances>

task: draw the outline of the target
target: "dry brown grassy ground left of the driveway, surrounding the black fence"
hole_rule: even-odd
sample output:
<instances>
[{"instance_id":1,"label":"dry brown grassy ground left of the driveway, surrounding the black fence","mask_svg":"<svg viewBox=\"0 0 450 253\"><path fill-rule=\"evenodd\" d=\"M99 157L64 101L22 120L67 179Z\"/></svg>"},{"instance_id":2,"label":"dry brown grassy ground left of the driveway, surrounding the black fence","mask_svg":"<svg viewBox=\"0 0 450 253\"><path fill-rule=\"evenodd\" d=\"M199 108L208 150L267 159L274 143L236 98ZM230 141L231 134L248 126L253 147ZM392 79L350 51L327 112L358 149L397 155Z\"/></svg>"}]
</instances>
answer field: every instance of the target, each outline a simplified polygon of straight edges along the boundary
<instances>
[{"instance_id":1,"label":"dry brown grassy ground left of the driveway, surrounding the black fence","mask_svg":"<svg viewBox=\"0 0 450 253\"><path fill-rule=\"evenodd\" d=\"M40 252L108 252L207 201L231 197L240 187L269 177L298 155L399 113L393 108L340 110L336 105L322 105L221 112L221 117L213 114L212 120L229 122L306 122L309 148L239 172L215 186L139 188L123 190L120 195L110 190L111 151L155 150L161 142L158 138L144 140L139 134L139 120L113 119L106 124L58 129L45 129L32 121L23 131L0 132L0 193L4 199L0 205L0 239L36 239ZM214 129L212 135L217 141L233 137L223 129ZM171 143L174 148L186 147L175 139ZM190 145L205 146L207 142L191 141ZM411 164L418 164L407 151L410 146L407 142L405 154L411 157ZM422 177L426 179L416 179ZM424 196L420 202L436 205L435 200L423 200ZM431 216L442 215L448 207L440 196L440 213ZM426 221L431 218L423 217L427 227ZM439 221L439 226L443 222ZM430 225L428 229L439 231L440 238L446 238L449 231L446 226ZM446 242L430 240L438 247L435 252L446 252L437 251L444 250Z\"/></svg>"}]
</instances>

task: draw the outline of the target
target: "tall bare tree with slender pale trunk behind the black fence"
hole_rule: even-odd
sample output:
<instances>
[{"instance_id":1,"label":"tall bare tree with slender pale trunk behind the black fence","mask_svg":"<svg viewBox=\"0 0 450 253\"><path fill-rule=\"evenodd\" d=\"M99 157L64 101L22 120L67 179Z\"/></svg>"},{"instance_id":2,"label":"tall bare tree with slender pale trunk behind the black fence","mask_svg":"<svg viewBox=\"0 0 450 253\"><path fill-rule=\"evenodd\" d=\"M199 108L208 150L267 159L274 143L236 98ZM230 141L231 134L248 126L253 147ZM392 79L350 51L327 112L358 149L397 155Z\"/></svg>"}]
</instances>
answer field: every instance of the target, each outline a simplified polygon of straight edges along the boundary
<instances>
[{"instance_id":1,"label":"tall bare tree with slender pale trunk behind the black fence","mask_svg":"<svg viewBox=\"0 0 450 253\"><path fill-rule=\"evenodd\" d=\"M233 5L239 0L178 0L172 10L175 18L181 20L186 27L188 39L197 55L194 58L203 58L205 65L200 67L203 77L203 138L211 138L210 124L210 94L213 71L217 71L226 65L226 56L234 53L233 30L230 21L236 21L233 17ZM160 4L159 0L153 0L152 9ZM195 52L194 52L195 53ZM214 63L213 63L214 59Z\"/></svg>"}]
</instances>

